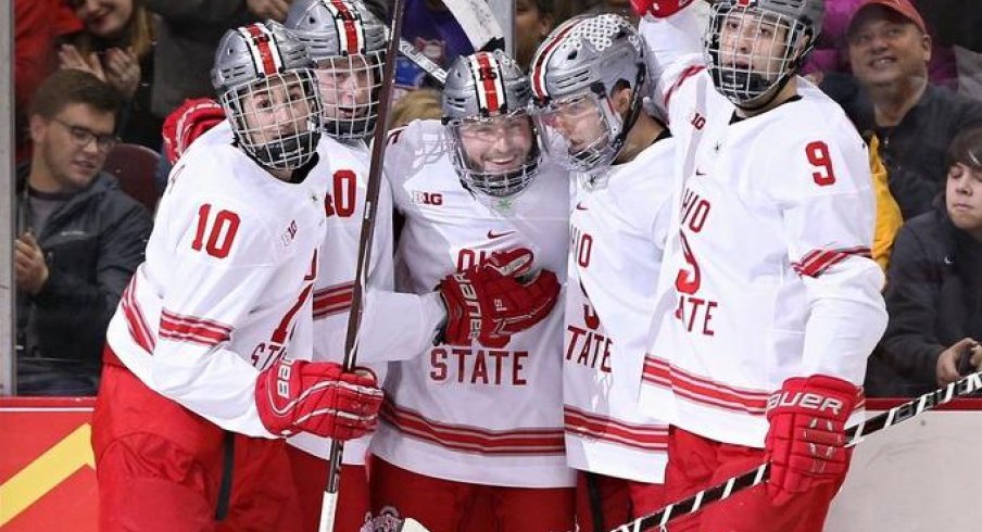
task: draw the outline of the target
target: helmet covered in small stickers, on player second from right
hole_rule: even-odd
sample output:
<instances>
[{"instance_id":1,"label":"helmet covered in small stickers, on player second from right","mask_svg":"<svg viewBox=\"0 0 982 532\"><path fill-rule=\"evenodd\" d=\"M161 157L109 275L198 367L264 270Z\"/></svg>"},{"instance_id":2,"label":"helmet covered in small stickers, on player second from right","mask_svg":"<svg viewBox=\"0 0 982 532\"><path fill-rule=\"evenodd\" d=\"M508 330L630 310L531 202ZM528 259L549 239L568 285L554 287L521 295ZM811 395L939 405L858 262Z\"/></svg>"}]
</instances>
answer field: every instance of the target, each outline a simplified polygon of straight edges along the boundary
<instances>
[{"instance_id":1,"label":"helmet covered in small stickers, on player second from right","mask_svg":"<svg viewBox=\"0 0 982 532\"><path fill-rule=\"evenodd\" d=\"M580 16L540 45L530 75L536 123L546 152L572 170L609 165L624 148L647 90L644 42L622 16ZM629 88L621 115L610 96Z\"/></svg>"}]
</instances>

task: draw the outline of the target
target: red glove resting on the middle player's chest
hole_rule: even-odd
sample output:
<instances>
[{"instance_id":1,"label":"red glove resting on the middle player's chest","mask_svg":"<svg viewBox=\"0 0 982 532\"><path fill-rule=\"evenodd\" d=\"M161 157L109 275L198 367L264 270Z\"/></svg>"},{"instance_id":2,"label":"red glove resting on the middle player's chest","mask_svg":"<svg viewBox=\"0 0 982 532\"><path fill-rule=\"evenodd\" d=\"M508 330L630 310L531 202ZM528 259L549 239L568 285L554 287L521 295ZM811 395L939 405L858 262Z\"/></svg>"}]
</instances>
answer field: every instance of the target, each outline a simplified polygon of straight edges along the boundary
<instances>
[{"instance_id":1,"label":"red glove resting on the middle player's chest","mask_svg":"<svg viewBox=\"0 0 982 532\"><path fill-rule=\"evenodd\" d=\"M491 258L443 278L437 289L446 306L439 343L504 347L511 335L549 315L559 296L556 275L540 270L527 276L532 252L494 253Z\"/></svg>"}]
</instances>

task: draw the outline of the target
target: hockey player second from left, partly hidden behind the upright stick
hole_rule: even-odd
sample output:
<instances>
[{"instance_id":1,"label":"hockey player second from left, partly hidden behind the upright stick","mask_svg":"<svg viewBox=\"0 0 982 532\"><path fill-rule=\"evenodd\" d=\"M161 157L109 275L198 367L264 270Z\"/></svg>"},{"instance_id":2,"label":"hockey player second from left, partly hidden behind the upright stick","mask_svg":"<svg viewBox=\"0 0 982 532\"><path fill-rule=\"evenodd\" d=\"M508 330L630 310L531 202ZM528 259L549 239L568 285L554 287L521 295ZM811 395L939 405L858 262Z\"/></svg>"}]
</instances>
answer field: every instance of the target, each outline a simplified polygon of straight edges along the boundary
<instances>
[{"instance_id":1,"label":"hockey player second from left, partly hidden behind the upright stick","mask_svg":"<svg viewBox=\"0 0 982 532\"><path fill-rule=\"evenodd\" d=\"M341 362L368 188L370 153L366 140L375 131L378 118L388 30L362 3L349 0L297 0L290 4L285 25L306 45L317 63L315 74L324 101L322 126L326 135L322 142L330 153L325 194L327 231L320 251L322 256L331 259L322 265L314 281L314 359ZM443 307L439 297L392 292L392 192L386 180L379 189L375 216L370 301L363 305L363 325L368 330L374 328L373 321L386 321L387 332L363 334L358 359L383 380L385 364L364 363L378 362L374 354L404 358L430 345L443 318ZM386 311L386 318L376 320L376 309ZM369 438L344 446L335 530L356 531L368 519L364 465ZM304 530L314 532L327 484L330 441L298 434L290 443L288 454Z\"/></svg>"}]
</instances>

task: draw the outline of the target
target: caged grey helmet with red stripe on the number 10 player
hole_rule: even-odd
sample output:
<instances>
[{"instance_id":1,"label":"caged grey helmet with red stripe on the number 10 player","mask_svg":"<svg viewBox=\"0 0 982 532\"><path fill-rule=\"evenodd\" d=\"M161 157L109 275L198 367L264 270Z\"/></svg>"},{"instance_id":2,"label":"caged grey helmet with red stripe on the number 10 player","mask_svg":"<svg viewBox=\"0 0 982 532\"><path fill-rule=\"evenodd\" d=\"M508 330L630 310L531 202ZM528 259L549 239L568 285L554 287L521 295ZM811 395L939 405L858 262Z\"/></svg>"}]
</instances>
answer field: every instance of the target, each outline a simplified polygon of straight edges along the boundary
<instances>
[{"instance_id":1,"label":"caged grey helmet with red stripe on the number 10 player","mask_svg":"<svg viewBox=\"0 0 982 532\"><path fill-rule=\"evenodd\" d=\"M218 42L212 87L237 145L267 169L294 169L320 140L320 98L306 48L275 23L229 29Z\"/></svg>"}]
</instances>

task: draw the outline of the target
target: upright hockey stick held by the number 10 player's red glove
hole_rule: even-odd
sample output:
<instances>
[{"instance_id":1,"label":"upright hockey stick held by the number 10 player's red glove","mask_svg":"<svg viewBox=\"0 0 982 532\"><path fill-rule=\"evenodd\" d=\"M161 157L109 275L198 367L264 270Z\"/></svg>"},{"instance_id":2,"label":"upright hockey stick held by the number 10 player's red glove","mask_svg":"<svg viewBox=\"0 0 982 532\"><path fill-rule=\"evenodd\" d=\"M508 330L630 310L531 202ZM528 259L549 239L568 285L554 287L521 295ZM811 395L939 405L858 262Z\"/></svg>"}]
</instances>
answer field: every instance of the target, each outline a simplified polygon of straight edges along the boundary
<instances>
[{"instance_id":1,"label":"upright hockey stick held by the number 10 player's red glove","mask_svg":"<svg viewBox=\"0 0 982 532\"><path fill-rule=\"evenodd\" d=\"M365 288L368 281L368 266L372 258L372 240L375 233L375 215L378 205L378 191L382 180L382 156L386 151L386 124L389 117L389 101L395 80L395 53L402 31L402 17L405 10L404 0L394 0L392 5L392 26L386 49L386 65L382 72L382 88L379 91L378 119L372 141L372 159L368 166L368 186L365 192L365 214L358 235L358 262L355 267L354 290L351 308L348 313L348 332L344 338L344 371L352 371L357 359L358 328L362 325L362 311ZM385 83L387 81L388 83ZM338 487L341 481L341 458L344 444L338 440L330 442L330 459L327 472L327 489L320 507L319 532L329 532L335 527L335 514L338 509Z\"/></svg>"}]
</instances>

